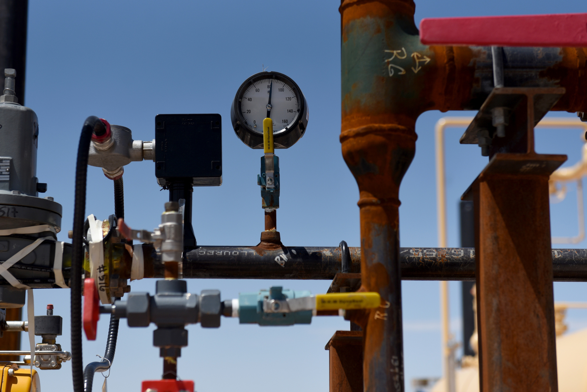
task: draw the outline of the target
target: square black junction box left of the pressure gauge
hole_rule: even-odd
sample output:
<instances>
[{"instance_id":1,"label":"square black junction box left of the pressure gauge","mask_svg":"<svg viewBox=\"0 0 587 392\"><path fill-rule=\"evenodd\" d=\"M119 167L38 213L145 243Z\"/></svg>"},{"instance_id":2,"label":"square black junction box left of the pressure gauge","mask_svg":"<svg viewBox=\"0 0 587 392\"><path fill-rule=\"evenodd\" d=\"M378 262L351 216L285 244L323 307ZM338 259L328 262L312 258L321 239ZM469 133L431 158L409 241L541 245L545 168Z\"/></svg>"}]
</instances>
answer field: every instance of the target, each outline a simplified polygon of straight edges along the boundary
<instances>
[{"instance_id":1,"label":"square black junction box left of the pressure gauge","mask_svg":"<svg viewBox=\"0 0 587 392\"><path fill-rule=\"evenodd\" d=\"M218 114L155 116L155 175L161 186L222 183L222 118Z\"/></svg>"}]
</instances>

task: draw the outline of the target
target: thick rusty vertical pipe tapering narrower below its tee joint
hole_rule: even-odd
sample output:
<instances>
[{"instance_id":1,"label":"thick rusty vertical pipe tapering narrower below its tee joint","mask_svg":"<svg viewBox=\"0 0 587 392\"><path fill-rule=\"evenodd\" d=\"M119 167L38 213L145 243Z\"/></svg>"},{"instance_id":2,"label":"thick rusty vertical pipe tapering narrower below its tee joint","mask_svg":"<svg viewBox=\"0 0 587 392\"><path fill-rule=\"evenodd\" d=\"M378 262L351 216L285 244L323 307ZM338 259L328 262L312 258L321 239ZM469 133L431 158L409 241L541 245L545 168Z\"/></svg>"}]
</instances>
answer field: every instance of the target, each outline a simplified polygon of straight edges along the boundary
<instances>
[{"instance_id":1,"label":"thick rusty vertical pipe tapering narrower below its tee joint","mask_svg":"<svg viewBox=\"0 0 587 392\"><path fill-rule=\"evenodd\" d=\"M387 72L384 55L393 47L393 34L386 30L393 25L396 11L413 15L414 4L411 0L345 1L340 6L340 142L360 192L359 291L378 292L382 297L378 309L348 312L348 318L365 331L363 387L368 392L404 390L399 186L416 150L417 114L394 113L393 90L380 72Z\"/></svg>"}]
</instances>

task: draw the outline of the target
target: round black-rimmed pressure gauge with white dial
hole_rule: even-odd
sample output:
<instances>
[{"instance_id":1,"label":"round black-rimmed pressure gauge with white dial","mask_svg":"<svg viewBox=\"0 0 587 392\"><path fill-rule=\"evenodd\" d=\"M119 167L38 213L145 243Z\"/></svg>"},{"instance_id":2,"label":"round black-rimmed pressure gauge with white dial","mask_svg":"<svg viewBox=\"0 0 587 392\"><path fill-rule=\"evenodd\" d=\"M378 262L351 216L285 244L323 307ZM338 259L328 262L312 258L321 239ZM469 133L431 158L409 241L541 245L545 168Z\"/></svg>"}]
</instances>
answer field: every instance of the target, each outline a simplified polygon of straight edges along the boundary
<instances>
[{"instance_id":1,"label":"round black-rimmed pressure gauge with white dial","mask_svg":"<svg viewBox=\"0 0 587 392\"><path fill-rule=\"evenodd\" d=\"M263 148L263 120L273 121L275 148L289 148L308 125L308 103L292 79L279 72L259 72L237 91L230 111L232 128L245 145Z\"/></svg>"}]
</instances>

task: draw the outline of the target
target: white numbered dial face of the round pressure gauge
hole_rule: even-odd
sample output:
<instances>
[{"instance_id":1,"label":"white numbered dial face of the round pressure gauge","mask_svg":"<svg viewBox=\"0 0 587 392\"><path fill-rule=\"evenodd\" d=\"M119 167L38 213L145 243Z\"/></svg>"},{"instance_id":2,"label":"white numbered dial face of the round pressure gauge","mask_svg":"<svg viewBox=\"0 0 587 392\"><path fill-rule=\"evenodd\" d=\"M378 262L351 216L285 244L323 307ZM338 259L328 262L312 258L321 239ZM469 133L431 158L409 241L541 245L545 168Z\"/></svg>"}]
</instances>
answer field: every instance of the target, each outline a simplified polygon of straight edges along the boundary
<instances>
[{"instance_id":1,"label":"white numbered dial face of the round pressure gauge","mask_svg":"<svg viewBox=\"0 0 587 392\"><path fill-rule=\"evenodd\" d=\"M273 83L273 85L271 85ZM293 124L298 117L299 103L294 89L277 79L262 79L252 83L242 94L241 113L245 122L255 132L263 133L263 120L267 117L271 90L271 119L273 133Z\"/></svg>"}]
</instances>

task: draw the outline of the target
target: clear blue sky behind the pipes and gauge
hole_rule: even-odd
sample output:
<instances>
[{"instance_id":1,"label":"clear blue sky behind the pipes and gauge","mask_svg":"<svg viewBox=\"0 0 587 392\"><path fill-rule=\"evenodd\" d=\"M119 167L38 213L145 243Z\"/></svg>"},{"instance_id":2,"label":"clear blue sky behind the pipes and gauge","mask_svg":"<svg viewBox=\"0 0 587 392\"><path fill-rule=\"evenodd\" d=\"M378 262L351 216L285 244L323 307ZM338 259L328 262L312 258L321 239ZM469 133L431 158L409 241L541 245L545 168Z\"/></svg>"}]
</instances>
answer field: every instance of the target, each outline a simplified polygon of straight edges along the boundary
<instances>
[{"instance_id":1,"label":"clear blue sky behind the pipes and gauge","mask_svg":"<svg viewBox=\"0 0 587 392\"><path fill-rule=\"evenodd\" d=\"M134 139L154 138L158 113L220 113L223 177L220 187L194 191L193 225L198 244L256 244L263 228L259 205L259 150L247 148L230 128L230 105L238 87L268 66L291 76L308 100L306 135L279 150L282 190L278 229L284 243L359 245L359 198L356 182L343 162L340 133L340 15L337 1L41 1L29 5L26 106L39 117L38 177L49 184L45 196L63 205L60 240L72 228L75 152L83 120L96 115L127 126ZM474 16L585 12L584 1L459 0L416 1L416 24L433 16ZM17 92L18 95L18 92ZM400 190L402 246L437 246L434 123L445 115L427 112L416 124L416 158ZM569 113L551 115L571 116ZM463 129L447 130L448 244L458 246L457 205L461 193L487 160L476 146L459 145ZM566 153L568 164L580 158L575 130L537 131L537 150ZM159 222L167 192L160 192L153 162L125 168L126 220L151 229ZM315 173L322 173L320 183ZM87 214L100 219L113 213L112 182L89 167ZM576 231L575 193L552 209L552 232ZM316 216L323 222L316 224ZM576 247L585 247L585 243ZM190 280L188 288L220 289L222 299L273 284L326 292L326 281ZM460 337L460 283L451 283L453 332ZM154 281L131 284L154 292ZM587 300L583 283L555 284L557 300ZM406 390L413 377L439 376L440 316L437 282L403 282ZM55 304L64 319L63 349L70 349L69 292L36 290L36 313ZM587 327L584 310L569 311L571 330ZM195 381L199 392L323 391L328 388L328 351L339 317L316 317L310 326L190 326L190 346L183 350L179 375ZM138 390L140 382L161 374L153 327L130 329L121 323L119 345L109 378L112 390ZM84 343L84 361L103 355L107 320L99 323L95 342ZM23 342L26 337L23 337ZM25 343L23 343L25 347ZM41 371L43 391L71 390L69 363L59 371ZM97 375L95 390L102 385Z\"/></svg>"}]
</instances>

